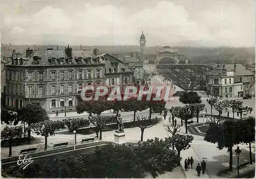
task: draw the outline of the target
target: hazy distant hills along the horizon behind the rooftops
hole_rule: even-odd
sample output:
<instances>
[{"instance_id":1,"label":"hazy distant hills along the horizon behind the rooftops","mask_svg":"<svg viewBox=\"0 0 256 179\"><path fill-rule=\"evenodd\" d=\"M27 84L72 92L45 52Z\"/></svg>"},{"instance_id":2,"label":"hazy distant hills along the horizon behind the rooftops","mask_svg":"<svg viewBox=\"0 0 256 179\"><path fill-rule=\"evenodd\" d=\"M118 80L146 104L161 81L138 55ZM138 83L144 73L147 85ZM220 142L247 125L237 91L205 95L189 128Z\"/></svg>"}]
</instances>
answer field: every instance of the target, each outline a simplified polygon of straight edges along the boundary
<instances>
[{"instance_id":1,"label":"hazy distant hills along the horizon behind the rooftops","mask_svg":"<svg viewBox=\"0 0 256 179\"><path fill-rule=\"evenodd\" d=\"M52 46L57 49L57 45L11 45L2 44L1 53L5 57L10 57L12 50L25 54L26 49L47 49ZM98 48L100 53L112 53L116 52L122 55L130 55L130 52L140 51L140 46L126 45L126 46L82 46L83 49ZM80 45L72 46L73 49L80 49ZM157 49L161 49L163 46L146 47L145 51L147 55L155 55ZM173 46L172 48L177 49L179 54L186 55L192 63L254 63L255 53L254 47L180 47ZM65 49L65 46L58 46L58 49ZM154 56L151 56L151 58Z\"/></svg>"}]
</instances>

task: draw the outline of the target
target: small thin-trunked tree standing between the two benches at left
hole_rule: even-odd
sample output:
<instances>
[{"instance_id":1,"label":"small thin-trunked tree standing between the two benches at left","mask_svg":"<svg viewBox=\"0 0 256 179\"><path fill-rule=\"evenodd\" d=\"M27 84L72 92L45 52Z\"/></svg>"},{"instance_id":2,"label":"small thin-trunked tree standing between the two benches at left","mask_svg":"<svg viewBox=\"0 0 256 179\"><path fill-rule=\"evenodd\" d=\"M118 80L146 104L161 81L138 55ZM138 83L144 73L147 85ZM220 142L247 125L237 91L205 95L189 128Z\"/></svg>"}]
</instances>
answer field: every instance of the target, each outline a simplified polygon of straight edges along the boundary
<instances>
[{"instance_id":1,"label":"small thin-trunked tree standing between the two benches at left","mask_svg":"<svg viewBox=\"0 0 256 179\"><path fill-rule=\"evenodd\" d=\"M45 150L47 150L47 138L54 134L56 123L52 120L41 121L30 125L31 130L36 135L45 137Z\"/></svg>"}]
</instances>

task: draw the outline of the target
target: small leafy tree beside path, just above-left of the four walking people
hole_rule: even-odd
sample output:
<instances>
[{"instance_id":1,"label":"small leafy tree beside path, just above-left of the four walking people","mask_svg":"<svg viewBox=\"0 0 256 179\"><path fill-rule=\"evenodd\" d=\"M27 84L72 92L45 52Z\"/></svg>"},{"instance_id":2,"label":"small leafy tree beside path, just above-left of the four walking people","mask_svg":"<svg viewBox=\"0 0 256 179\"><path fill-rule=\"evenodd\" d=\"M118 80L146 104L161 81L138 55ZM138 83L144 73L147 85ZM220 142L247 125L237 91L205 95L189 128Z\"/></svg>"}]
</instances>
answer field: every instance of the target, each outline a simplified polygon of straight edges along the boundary
<instances>
[{"instance_id":1,"label":"small leafy tree beside path, just above-left of the four walking people","mask_svg":"<svg viewBox=\"0 0 256 179\"><path fill-rule=\"evenodd\" d=\"M194 137L191 135L180 135L175 134L172 137L165 138L166 141L169 141L170 144L174 144L180 157L181 150L186 150L190 148L190 143L193 141Z\"/></svg>"}]
</instances>

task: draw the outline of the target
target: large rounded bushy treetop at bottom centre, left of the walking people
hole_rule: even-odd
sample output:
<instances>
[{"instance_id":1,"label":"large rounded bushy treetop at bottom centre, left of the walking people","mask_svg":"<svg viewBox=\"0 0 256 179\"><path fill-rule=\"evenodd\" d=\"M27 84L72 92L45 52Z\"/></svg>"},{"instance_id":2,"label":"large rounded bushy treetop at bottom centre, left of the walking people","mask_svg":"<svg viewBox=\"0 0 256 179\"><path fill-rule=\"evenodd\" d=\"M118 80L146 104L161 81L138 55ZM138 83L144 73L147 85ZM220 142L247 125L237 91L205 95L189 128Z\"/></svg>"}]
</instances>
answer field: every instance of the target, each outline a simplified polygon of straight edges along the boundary
<instances>
[{"instance_id":1,"label":"large rounded bushy treetop at bottom centre, left of the walking people","mask_svg":"<svg viewBox=\"0 0 256 179\"><path fill-rule=\"evenodd\" d=\"M173 171L181 160L168 142L158 138L139 142L135 152L144 171L150 172L153 178L156 178L158 173Z\"/></svg>"}]
</instances>

